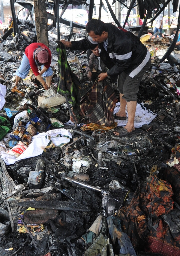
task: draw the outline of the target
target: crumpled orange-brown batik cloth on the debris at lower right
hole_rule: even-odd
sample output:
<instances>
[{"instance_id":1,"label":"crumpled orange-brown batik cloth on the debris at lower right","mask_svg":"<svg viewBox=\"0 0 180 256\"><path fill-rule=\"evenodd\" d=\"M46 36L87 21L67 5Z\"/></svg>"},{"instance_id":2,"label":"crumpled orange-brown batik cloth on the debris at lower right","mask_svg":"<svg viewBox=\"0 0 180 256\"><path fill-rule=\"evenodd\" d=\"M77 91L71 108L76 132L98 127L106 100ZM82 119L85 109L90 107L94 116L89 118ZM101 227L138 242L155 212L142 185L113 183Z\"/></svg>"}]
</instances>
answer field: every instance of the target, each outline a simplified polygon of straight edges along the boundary
<instances>
[{"instance_id":1,"label":"crumpled orange-brown batik cloth on the debris at lower right","mask_svg":"<svg viewBox=\"0 0 180 256\"><path fill-rule=\"evenodd\" d=\"M174 203L172 196L171 185L153 174L148 183L139 183L129 206L118 211L118 217L123 221L122 231L128 235L135 250L144 250L148 247L148 251L152 252L157 238L161 239L159 244L162 246L163 240L166 238L168 246L176 251L177 244L170 234L170 228L161 217L172 212ZM165 230L166 232L164 232ZM162 246L156 253L168 256L161 250ZM169 255L177 256L176 254Z\"/></svg>"}]
</instances>

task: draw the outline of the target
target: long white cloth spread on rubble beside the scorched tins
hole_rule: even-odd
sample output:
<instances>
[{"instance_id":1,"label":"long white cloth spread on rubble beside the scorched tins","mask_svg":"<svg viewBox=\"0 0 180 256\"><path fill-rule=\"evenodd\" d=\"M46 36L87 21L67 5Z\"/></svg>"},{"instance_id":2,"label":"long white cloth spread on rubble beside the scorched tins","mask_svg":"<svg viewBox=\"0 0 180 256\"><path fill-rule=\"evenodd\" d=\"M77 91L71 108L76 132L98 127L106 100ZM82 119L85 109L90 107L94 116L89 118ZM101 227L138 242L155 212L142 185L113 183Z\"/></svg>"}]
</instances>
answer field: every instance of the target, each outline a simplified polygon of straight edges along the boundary
<instances>
[{"instance_id":1,"label":"long white cloth spread on rubble beside the scorched tins","mask_svg":"<svg viewBox=\"0 0 180 256\"><path fill-rule=\"evenodd\" d=\"M19 157L15 158L14 156L6 153L3 153L1 157L4 159L6 165L14 164L22 159L41 155L47 147L52 147L53 145L56 147L62 147L69 143L71 138L71 133L66 129L61 128L50 130L46 133L40 133L33 136L31 144Z\"/></svg>"}]
</instances>

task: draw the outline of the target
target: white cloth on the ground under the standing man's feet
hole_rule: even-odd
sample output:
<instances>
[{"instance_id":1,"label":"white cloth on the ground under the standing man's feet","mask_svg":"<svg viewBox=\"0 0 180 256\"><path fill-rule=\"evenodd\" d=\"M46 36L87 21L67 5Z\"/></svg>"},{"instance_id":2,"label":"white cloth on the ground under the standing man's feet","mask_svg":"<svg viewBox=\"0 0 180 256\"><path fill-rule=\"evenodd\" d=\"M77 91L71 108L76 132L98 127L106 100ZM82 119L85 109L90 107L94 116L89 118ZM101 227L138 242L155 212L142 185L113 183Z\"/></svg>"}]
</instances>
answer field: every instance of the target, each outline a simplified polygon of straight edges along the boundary
<instances>
[{"instance_id":1,"label":"white cloth on the ground under the standing man's feet","mask_svg":"<svg viewBox=\"0 0 180 256\"><path fill-rule=\"evenodd\" d=\"M116 106L114 108L114 114L116 114L119 111L120 108L120 102L116 103ZM127 106L126 106L126 120L117 120L115 119L115 122L117 122L117 126L125 126L128 121L128 113L127 113ZM147 110L146 107L144 107L143 103L137 103L136 106L136 113L134 118L134 127L140 128L143 124L149 124L152 122L154 118L156 118L157 113L153 113L150 110Z\"/></svg>"}]
</instances>

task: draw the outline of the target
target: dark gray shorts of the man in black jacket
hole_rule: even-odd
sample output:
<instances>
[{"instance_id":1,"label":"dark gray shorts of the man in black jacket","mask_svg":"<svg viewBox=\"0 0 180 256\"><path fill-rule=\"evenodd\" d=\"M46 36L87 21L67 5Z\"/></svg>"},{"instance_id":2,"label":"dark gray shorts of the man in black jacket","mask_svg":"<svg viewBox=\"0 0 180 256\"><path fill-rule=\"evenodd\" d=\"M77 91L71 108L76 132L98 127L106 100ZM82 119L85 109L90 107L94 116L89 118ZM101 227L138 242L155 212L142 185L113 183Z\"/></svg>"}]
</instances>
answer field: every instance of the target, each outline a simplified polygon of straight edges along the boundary
<instances>
[{"instance_id":1,"label":"dark gray shorts of the man in black jacket","mask_svg":"<svg viewBox=\"0 0 180 256\"><path fill-rule=\"evenodd\" d=\"M125 72L122 72L117 81L117 90L124 94L122 96L123 99L125 99L127 102L129 101L136 101L137 100L137 94L139 91L139 84L141 82L141 79L143 78L143 75L148 70L148 68L151 65L151 58L147 62L147 64L144 66L143 69L134 77L130 77Z\"/></svg>"}]
</instances>

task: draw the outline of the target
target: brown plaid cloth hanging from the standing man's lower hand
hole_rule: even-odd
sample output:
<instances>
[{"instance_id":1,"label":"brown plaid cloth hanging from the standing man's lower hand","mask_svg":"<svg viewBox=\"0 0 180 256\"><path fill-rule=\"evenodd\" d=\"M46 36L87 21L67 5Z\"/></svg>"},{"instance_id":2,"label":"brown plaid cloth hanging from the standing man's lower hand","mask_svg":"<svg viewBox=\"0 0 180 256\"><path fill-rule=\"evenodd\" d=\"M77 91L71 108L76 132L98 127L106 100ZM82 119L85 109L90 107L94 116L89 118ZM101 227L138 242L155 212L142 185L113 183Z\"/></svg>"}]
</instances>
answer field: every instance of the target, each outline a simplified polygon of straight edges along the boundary
<instances>
[{"instance_id":1,"label":"brown plaid cloth hanging from the standing man's lower hand","mask_svg":"<svg viewBox=\"0 0 180 256\"><path fill-rule=\"evenodd\" d=\"M114 123L113 111L118 101L109 80L94 83L93 87L81 98L81 113L89 122L111 126Z\"/></svg>"}]
</instances>

